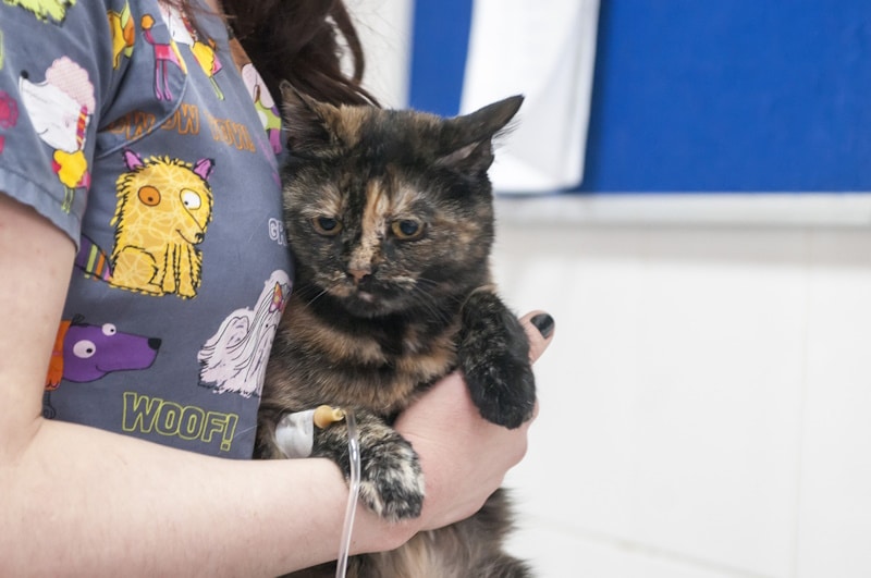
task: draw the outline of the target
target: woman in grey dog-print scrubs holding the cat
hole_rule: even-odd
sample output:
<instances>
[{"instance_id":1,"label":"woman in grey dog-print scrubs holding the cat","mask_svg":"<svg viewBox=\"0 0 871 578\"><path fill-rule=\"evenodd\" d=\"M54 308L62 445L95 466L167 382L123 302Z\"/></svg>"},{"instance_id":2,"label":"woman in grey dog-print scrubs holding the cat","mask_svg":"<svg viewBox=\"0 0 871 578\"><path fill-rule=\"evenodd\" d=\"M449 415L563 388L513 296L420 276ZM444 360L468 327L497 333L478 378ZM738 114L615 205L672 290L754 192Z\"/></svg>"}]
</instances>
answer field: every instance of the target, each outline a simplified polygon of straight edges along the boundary
<instances>
[{"instance_id":1,"label":"woman in grey dog-print scrubs holding the cat","mask_svg":"<svg viewBox=\"0 0 871 578\"><path fill-rule=\"evenodd\" d=\"M344 7L7 0L0 41L0 574L270 576L334 558L334 465L246 458L292 278L270 94L286 77L369 99ZM533 357L552 330L536 320ZM353 552L474 513L528 425L484 422L452 376L396 427L421 456L424 513L359 508Z\"/></svg>"}]
</instances>

